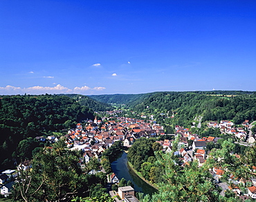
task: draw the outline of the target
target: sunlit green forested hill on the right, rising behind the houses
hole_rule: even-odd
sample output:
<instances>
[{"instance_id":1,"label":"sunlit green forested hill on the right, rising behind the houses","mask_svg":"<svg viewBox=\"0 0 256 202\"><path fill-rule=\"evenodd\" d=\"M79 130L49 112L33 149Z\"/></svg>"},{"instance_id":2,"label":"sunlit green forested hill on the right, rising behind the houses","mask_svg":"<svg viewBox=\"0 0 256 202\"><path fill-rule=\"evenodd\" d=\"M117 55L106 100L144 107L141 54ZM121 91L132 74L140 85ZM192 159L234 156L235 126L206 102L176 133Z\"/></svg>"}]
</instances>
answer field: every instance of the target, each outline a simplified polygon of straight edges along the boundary
<instances>
[{"instance_id":1,"label":"sunlit green forested hill on the right, rising behind the houses","mask_svg":"<svg viewBox=\"0 0 256 202\"><path fill-rule=\"evenodd\" d=\"M194 118L199 116L203 117L202 120L233 120L238 124L246 119L256 120L256 93L160 92L131 102L129 107L176 125L191 125Z\"/></svg>"}]
</instances>

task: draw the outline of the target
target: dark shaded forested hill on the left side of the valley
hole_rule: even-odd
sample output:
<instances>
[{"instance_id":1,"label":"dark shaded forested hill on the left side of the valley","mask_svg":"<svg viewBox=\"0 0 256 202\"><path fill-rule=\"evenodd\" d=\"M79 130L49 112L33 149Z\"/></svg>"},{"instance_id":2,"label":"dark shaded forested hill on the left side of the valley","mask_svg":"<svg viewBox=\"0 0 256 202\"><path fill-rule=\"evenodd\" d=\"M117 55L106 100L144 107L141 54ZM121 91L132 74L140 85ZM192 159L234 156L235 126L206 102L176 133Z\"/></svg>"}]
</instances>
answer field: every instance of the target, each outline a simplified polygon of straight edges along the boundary
<instances>
[{"instance_id":1,"label":"dark shaded forested hill on the left side of the valley","mask_svg":"<svg viewBox=\"0 0 256 202\"><path fill-rule=\"evenodd\" d=\"M94 118L93 111L67 96L0 97L0 169L13 166L12 157L20 156L17 149L21 140L48 136L48 131L75 127L76 122Z\"/></svg>"}]
</instances>

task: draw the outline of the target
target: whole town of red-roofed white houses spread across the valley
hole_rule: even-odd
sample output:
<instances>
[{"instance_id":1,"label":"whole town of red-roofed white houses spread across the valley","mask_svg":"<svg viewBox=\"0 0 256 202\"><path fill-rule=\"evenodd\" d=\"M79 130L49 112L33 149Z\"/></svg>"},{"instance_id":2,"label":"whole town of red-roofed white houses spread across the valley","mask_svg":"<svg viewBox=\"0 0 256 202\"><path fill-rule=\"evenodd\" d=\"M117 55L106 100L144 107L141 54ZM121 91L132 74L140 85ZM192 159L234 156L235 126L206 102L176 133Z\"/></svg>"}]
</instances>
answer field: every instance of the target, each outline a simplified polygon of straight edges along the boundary
<instances>
[{"instance_id":1,"label":"whole town of red-roofed white houses spread across the valley","mask_svg":"<svg viewBox=\"0 0 256 202\"><path fill-rule=\"evenodd\" d=\"M39 142L55 143L60 138L65 140L66 147L71 150L79 150L82 152L82 158L80 159L80 165L89 163L93 158L100 160L102 153L109 149L113 143L120 141L124 147L131 147L134 142L139 138L156 138L169 136L172 138L156 140L161 145L164 153L174 152L174 155L179 156L181 160L181 167L190 165L193 160L198 161L198 166L201 167L210 156L210 149L208 143L217 144L221 138L214 136L200 137L199 134L193 134L190 129L183 128L182 126L175 126L174 134L165 134L163 126L156 123L154 120L139 120L136 118L118 117L116 113L109 113L110 117L103 117L94 120L86 120L83 123L77 123L75 129L68 129L65 136L37 136L36 140ZM153 118L152 118L153 119ZM104 121L105 122L104 122ZM209 128L219 129L220 134L229 134L236 138L237 143L251 146L255 142L255 134L252 134L249 124L249 120L245 120L235 127L234 123L229 120L221 120L220 122L211 121L208 122ZM172 144L176 138L179 138L178 149L172 151ZM237 154L234 154L237 155ZM239 155L237 155L239 158ZM15 178L21 170L30 169L29 160L20 163L17 166L17 170L7 169L1 172L0 185L1 194L8 196L11 194L12 185L15 183ZM256 171L256 167L253 172ZM91 170L91 174L96 172L102 172L102 170ZM104 169L103 169L104 172ZM240 199L256 199L256 179L251 178L250 186L247 187L248 192L242 192L239 189L239 185L244 183L242 179L233 178L230 176L228 182L221 181L225 169L222 167L214 167L209 170L214 178L214 182L221 187L221 194L224 196L226 190L232 190ZM115 173L108 175L108 182L112 185L117 185L120 182L118 176ZM231 186L232 182L232 186ZM235 184L235 186L234 186ZM248 184L248 182L247 182ZM125 201L138 201L134 194L134 188L131 186L118 187L118 191L111 191L112 195L118 195L119 199ZM116 201L118 201L116 198Z\"/></svg>"}]
</instances>

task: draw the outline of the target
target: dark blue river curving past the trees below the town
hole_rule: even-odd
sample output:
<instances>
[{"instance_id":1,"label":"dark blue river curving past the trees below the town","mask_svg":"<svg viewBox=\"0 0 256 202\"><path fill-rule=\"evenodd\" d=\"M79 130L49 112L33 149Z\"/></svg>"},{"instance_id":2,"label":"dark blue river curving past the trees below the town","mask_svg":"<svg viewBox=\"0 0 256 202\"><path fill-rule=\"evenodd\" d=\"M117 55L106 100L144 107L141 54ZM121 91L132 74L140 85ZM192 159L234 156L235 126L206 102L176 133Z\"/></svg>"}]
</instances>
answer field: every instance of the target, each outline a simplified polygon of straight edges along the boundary
<instances>
[{"instance_id":1,"label":"dark blue river curving past the trees below the town","mask_svg":"<svg viewBox=\"0 0 256 202\"><path fill-rule=\"evenodd\" d=\"M127 164L127 154L124 152L118 160L111 163L113 172L118 176L118 179L125 178L126 181L131 181L134 184L136 192L143 192L143 194L152 195L156 189L145 183Z\"/></svg>"}]
</instances>

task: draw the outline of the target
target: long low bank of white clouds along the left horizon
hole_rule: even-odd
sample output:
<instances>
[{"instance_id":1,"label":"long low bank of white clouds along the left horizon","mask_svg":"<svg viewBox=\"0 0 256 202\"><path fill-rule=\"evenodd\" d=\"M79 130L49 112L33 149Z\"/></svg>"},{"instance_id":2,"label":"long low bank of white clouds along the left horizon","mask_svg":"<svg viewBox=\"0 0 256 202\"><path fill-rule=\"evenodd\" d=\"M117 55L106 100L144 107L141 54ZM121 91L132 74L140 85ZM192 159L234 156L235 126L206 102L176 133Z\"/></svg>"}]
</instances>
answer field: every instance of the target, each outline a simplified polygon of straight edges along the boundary
<instances>
[{"instance_id":1,"label":"long low bank of white clouds along the left horizon","mask_svg":"<svg viewBox=\"0 0 256 202\"><path fill-rule=\"evenodd\" d=\"M14 95L14 94L24 94L24 93L29 93L29 94L59 94L59 93L84 93L85 91L103 91L106 89L105 87L93 87L90 88L89 86L82 86L82 87L75 87L74 89L68 89L65 86L62 86L60 84L57 84L56 86L50 87L50 86L32 86L28 88L23 88L21 87L15 87L15 86L6 86L6 87L1 87L0 86L0 95Z\"/></svg>"}]
</instances>

